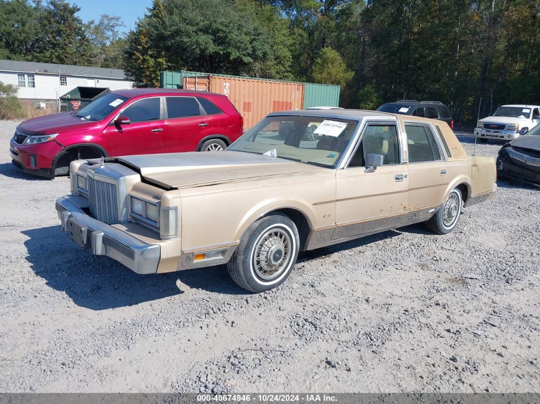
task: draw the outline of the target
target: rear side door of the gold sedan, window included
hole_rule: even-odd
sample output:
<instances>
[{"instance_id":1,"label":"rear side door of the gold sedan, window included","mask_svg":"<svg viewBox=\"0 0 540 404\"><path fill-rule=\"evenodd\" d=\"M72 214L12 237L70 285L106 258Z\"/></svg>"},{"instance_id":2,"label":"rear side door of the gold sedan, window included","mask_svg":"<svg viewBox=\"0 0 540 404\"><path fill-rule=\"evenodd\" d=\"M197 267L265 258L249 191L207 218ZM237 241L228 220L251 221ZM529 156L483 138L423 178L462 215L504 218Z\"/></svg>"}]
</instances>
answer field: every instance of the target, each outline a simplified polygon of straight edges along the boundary
<instances>
[{"instance_id":1,"label":"rear side door of the gold sedan, window included","mask_svg":"<svg viewBox=\"0 0 540 404\"><path fill-rule=\"evenodd\" d=\"M433 127L422 122L404 122L409 162L411 211L434 208L442 203L449 183L447 161Z\"/></svg>"}]
</instances>

